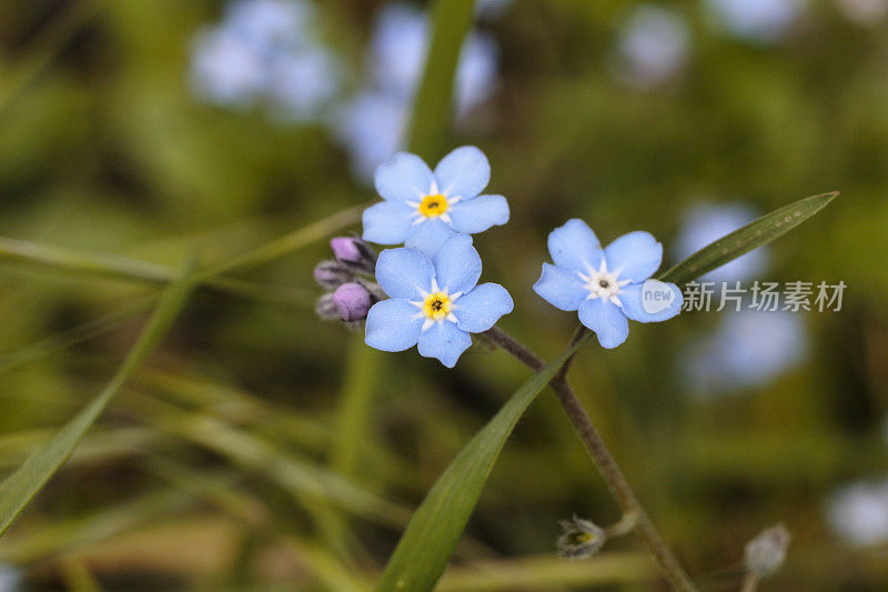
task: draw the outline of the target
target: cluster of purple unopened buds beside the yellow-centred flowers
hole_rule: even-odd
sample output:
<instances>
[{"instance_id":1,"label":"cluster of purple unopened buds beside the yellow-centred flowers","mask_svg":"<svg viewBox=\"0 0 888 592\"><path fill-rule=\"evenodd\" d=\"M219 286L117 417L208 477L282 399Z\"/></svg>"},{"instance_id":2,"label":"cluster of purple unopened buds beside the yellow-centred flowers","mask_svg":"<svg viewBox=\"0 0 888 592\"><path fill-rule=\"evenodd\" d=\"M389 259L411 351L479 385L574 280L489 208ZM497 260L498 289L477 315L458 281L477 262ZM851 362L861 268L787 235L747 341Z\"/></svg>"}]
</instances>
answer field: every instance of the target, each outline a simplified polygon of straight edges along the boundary
<instances>
[{"instance_id":1,"label":"cluster of purple unopened buds beside the yellow-centred flowers","mask_svg":"<svg viewBox=\"0 0 888 592\"><path fill-rule=\"evenodd\" d=\"M372 279L376 253L354 237L336 237L330 248L335 259L321 261L314 268L314 280L326 290L317 299L315 311L325 320L362 321L382 293Z\"/></svg>"}]
</instances>

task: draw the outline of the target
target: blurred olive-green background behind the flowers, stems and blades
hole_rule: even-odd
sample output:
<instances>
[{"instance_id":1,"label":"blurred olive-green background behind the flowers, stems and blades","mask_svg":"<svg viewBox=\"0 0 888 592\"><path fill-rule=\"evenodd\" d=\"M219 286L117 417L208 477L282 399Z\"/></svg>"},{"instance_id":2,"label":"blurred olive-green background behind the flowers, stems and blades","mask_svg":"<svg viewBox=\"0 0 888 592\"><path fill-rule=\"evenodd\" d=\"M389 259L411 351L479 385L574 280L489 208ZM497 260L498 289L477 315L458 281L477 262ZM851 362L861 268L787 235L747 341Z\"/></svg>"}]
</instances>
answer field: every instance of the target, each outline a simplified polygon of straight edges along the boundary
<instances>
[{"instance_id":1,"label":"blurred olive-green background behind the flowers, stems and blades","mask_svg":"<svg viewBox=\"0 0 888 592\"><path fill-rule=\"evenodd\" d=\"M483 278L515 300L501 325L545 358L576 323L531 289L547 233L566 219L585 219L604 242L648 230L672 263L694 204L764 213L842 192L771 244L754 278L846 282L841 311L798 314L797 363L700 388L687 357L720 315L694 312L634 323L623 347L588 347L572 370L704 590L736 590L745 542L779 521L793 546L763 589L888 588L888 20L875 9L850 18L851 3L801 2L767 39L731 34L704 2L648 3L682 19L686 36L679 66L653 82L620 73L634 59L620 40L637 2L517 0L476 26L498 46L497 83L460 118L450 147L482 148L490 191L509 200L508 225L475 245ZM382 6L315 4L343 104L366 82ZM0 237L171 268L199 249L213 265L376 199L331 129L341 111L284 121L194 92L195 34L225 10L0 3ZM239 272L258 293L198 292L0 540L18 585L360 590L376 578L434 480L528 373L483 347L446 371L415 351L372 352L360 333L319 321L312 268L330 257L326 238L350 231L359 218L340 215L303 248ZM144 322L139 303L157 291L0 254L3 470L107 383ZM861 483L864 505L837 524L837 500ZM441 589L663 589L632 539L586 562L558 560L558 520L572 514L619 518L544 392ZM844 530L847 515L872 532Z\"/></svg>"}]
</instances>

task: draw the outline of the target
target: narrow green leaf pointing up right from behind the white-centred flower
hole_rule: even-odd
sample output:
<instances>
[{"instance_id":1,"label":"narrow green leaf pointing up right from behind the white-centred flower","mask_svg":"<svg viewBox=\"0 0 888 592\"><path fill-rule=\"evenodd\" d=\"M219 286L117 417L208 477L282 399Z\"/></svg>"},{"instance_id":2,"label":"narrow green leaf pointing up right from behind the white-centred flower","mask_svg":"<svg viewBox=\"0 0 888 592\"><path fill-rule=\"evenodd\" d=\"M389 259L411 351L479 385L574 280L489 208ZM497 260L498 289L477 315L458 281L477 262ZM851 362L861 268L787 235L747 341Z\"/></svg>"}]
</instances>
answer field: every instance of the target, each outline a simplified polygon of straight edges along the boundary
<instances>
[{"instance_id":1,"label":"narrow green leaf pointing up right from behind the white-centred flower","mask_svg":"<svg viewBox=\"0 0 888 592\"><path fill-rule=\"evenodd\" d=\"M838 194L838 191L834 191L813 195L774 210L769 214L763 215L758 220L749 222L730 234L704 247L674 268L662 273L657 279L682 284L699 278L704 273L720 268L741 254L786 234L826 208Z\"/></svg>"}]
</instances>

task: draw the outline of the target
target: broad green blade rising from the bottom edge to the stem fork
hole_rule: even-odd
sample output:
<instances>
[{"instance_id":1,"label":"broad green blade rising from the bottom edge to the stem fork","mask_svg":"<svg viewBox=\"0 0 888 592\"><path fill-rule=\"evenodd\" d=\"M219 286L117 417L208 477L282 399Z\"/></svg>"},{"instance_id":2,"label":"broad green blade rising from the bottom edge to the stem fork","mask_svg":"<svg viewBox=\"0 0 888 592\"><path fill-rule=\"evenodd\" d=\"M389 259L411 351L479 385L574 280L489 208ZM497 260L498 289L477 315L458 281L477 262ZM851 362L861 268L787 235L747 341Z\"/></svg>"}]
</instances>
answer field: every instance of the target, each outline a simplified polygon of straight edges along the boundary
<instances>
[{"instance_id":1,"label":"broad green blade rising from the bottom edge to the stem fork","mask_svg":"<svg viewBox=\"0 0 888 592\"><path fill-rule=\"evenodd\" d=\"M527 405L592 333L525 382L460 454L425 496L389 560L377 590L432 590L477 503L500 451Z\"/></svg>"}]
</instances>

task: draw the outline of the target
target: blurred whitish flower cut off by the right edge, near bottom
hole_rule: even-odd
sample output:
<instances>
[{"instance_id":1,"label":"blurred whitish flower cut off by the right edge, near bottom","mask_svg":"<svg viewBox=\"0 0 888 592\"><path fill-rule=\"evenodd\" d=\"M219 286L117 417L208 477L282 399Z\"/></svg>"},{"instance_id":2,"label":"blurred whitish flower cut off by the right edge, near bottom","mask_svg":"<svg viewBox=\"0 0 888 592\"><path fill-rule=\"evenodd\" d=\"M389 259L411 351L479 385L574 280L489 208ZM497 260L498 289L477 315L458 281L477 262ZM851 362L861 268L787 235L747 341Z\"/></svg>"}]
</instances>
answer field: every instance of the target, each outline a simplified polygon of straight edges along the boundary
<instances>
[{"instance_id":1,"label":"blurred whitish flower cut off by the right edge, near bottom","mask_svg":"<svg viewBox=\"0 0 888 592\"><path fill-rule=\"evenodd\" d=\"M833 531L850 544L888 542L888 481L840 489L827 500L826 514Z\"/></svg>"}]
</instances>

